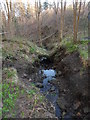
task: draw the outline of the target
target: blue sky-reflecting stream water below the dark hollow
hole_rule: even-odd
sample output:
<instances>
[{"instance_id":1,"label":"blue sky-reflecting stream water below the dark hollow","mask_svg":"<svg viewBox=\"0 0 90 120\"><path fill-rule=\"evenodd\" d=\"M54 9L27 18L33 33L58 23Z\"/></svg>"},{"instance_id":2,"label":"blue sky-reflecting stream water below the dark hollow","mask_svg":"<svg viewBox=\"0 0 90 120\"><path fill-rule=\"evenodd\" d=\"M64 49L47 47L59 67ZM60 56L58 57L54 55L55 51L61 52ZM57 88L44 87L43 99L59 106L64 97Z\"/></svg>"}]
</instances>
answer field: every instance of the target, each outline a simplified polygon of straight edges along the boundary
<instances>
[{"instance_id":1,"label":"blue sky-reflecting stream water below the dark hollow","mask_svg":"<svg viewBox=\"0 0 90 120\"><path fill-rule=\"evenodd\" d=\"M56 86L49 83L49 81L55 80L56 71L53 69L49 69L49 70L46 69L46 70L40 70L39 74L41 73L45 78L43 79L43 88L41 88L40 91L54 105L56 117L60 118L61 110L56 102L58 99L59 91Z\"/></svg>"}]
</instances>

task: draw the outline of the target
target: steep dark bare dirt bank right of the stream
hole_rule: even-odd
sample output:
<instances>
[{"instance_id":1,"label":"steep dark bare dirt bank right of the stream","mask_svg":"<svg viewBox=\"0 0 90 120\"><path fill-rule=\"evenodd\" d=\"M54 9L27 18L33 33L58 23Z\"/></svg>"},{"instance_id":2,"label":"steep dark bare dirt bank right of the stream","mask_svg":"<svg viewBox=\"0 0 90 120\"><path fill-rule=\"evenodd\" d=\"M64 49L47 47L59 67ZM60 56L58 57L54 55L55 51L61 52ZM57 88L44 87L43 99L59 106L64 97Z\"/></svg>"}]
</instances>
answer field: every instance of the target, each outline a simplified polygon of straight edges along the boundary
<instances>
[{"instance_id":1,"label":"steep dark bare dirt bank right of the stream","mask_svg":"<svg viewBox=\"0 0 90 120\"><path fill-rule=\"evenodd\" d=\"M69 54L65 48L59 48L51 58L54 62L53 68L57 71L56 81L52 83L59 88L57 102L63 116L67 116L69 112L74 117L86 117L90 112L88 68L83 66L77 51Z\"/></svg>"}]
</instances>

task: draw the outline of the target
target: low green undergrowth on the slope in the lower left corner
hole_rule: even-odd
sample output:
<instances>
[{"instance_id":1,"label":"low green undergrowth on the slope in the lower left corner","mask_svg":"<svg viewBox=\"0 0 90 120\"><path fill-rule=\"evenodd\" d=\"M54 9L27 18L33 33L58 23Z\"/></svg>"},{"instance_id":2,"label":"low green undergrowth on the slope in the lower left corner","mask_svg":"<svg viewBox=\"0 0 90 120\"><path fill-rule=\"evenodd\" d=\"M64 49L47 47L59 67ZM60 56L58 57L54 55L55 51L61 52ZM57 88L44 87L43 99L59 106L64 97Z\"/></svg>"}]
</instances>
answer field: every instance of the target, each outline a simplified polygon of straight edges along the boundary
<instances>
[{"instance_id":1,"label":"low green undergrowth on the slope in the lower left corner","mask_svg":"<svg viewBox=\"0 0 90 120\"><path fill-rule=\"evenodd\" d=\"M0 108L0 114L2 114L3 118L16 117L17 107L16 101L19 99L19 96L26 96L29 102L31 102L31 106L29 110L32 111L31 115L36 110L36 106L41 104L45 97L39 93L39 89L35 87L33 83L30 84L30 88L22 88L19 86L19 80L17 76L17 71L14 68L4 68L3 69L4 79L0 87L2 87L2 94L0 97L3 101L3 107ZM21 117L24 118L25 112L21 111Z\"/></svg>"}]
</instances>

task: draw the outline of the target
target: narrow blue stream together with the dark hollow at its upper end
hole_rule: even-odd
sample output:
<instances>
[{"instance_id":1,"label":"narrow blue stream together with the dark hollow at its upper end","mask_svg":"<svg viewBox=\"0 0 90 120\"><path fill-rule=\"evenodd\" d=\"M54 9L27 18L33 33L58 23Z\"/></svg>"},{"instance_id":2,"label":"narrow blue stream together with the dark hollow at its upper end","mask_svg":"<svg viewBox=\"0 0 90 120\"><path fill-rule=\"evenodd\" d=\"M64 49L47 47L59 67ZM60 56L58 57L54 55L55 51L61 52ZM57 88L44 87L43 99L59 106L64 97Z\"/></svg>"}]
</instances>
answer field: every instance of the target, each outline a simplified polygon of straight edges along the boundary
<instances>
[{"instance_id":1,"label":"narrow blue stream together with the dark hollow at its upper end","mask_svg":"<svg viewBox=\"0 0 90 120\"><path fill-rule=\"evenodd\" d=\"M40 92L43 93L47 100L54 105L56 117L61 118L61 109L57 104L59 90L56 86L50 83L50 81L56 80L55 76L57 73L52 67L50 67L51 62L46 57L40 59L40 64L39 75L43 78L43 87L40 88ZM49 66L50 68L47 68L46 66Z\"/></svg>"}]
</instances>

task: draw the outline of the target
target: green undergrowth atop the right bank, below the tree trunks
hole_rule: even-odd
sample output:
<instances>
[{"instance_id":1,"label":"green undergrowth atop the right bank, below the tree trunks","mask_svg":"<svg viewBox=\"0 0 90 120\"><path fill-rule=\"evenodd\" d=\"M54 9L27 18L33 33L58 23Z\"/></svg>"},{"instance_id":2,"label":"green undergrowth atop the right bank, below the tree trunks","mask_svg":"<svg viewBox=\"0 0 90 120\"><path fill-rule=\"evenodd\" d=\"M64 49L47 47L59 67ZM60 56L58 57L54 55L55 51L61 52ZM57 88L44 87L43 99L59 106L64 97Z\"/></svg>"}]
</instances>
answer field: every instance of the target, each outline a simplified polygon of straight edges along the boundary
<instances>
[{"instance_id":1,"label":"green undergrowth atop the right bank, below the tree trunks","mask_svg":"<svg viewBox=\"0 0 90 120\"><path fill-rule=\"evenodd\" d=\"M84 60L88 60L88 40L81 40L75 44L73 43L72 39L71 40L64 39L62 40L61 45L65 46L67 52L69 53L79 51L80 56Z\"/></svg>"}]
</instances>

